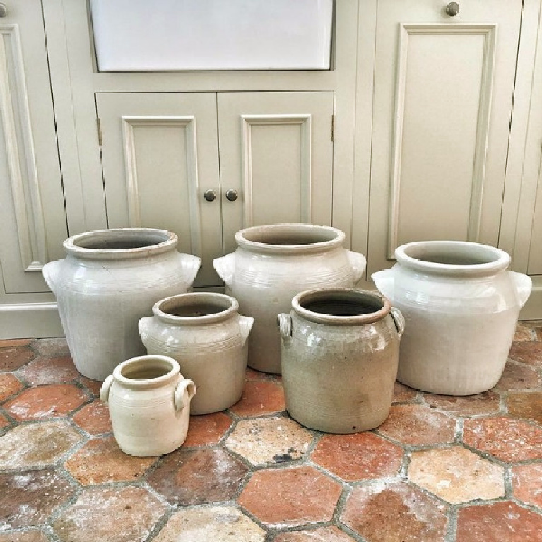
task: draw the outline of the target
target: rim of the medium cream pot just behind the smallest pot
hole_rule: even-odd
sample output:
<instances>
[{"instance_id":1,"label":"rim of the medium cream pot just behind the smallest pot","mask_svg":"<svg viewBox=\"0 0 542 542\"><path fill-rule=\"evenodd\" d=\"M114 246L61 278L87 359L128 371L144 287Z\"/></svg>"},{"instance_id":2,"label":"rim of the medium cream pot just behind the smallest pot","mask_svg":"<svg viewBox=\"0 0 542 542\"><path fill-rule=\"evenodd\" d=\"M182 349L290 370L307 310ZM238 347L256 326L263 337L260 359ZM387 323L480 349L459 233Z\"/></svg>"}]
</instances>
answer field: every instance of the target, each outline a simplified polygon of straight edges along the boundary
<instances>
[{"instance_id":1,"label":"rim of the medium cream pot just behind the smallest pot","mask_svg":"<svg viewBox=\"0 0 542 542\"><path fill-rule=\"evenodd\" d=\"M217 307L220 304L223 310L219 310L213 314L204 314L202 316L177 316L165 312L165 305L170 305L170 308L181 307L182 305L194 305L196 303L212 303ZM221 303L220 303L221 302ZM228 304L228 306L225 306ZM182 326L201 326L206 324L217 324L224 320L230 319L233 314L237 314L239 310L239 302L235 297L224 293L215 292L191 292L171 295L164 299L155 302L153 305L153 314L161 322L168 324L176 324Z\"/></svg>"}]
</instances>

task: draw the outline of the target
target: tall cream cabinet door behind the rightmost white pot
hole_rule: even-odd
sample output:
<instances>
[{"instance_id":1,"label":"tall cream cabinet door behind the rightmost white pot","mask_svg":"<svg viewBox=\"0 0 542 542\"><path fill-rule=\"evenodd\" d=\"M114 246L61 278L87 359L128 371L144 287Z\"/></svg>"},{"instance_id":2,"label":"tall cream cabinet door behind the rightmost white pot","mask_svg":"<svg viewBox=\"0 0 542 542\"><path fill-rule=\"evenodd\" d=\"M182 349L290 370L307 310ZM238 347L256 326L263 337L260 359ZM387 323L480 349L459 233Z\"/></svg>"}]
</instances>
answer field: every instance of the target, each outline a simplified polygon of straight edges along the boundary
<instances>
[{"instance_id":1,"label":"tall cream cabinet door behind the rightmost white pot","mask_svg":"<svg viewBox=\"0 0 542 542\"><path fill-rule=\"evenodd\" d=\"M409 241L498 242L522 1L446 4L378 1L369 273Z\"/></svg>"}]
</instances>

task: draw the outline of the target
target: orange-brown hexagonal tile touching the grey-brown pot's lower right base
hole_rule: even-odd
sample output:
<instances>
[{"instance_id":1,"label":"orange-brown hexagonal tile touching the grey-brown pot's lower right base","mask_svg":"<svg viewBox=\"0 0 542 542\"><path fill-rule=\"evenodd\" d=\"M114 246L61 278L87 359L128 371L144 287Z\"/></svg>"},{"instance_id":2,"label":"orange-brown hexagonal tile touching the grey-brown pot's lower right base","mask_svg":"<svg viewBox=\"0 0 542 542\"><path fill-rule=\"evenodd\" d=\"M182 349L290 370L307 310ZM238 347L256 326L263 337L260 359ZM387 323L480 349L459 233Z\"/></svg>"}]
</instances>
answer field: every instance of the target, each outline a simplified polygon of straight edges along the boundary
<instances>
[{"instance_id":1,"label":"orange-brown hexagonal tile touching the grey-brown pot's lower right base","mask_svg":"<svg viewBox=\"0 0 542 542\"><path fill-rule=\"evenodd\" d=\"M404 444L453 442L455 421L423 405L394 405L378 432Z\"/></svg>"}]
</instances>

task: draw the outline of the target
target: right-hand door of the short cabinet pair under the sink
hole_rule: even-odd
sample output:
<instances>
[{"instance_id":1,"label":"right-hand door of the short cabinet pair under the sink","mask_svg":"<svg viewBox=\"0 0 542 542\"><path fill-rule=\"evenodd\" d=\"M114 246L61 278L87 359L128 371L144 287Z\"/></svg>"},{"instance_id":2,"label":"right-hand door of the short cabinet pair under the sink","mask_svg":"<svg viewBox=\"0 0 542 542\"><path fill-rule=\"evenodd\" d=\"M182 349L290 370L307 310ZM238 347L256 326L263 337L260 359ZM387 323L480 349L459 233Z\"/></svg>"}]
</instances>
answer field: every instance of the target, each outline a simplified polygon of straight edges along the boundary
<instances>
[{"instance_id":1,"label":"right-hand door of the short cabinet pair under the sink","mask_svg":"<svg viewBox=\"0 0 542 542\"><path fill-rule=\"evenodd\" d=\"M252 225L331 224L333 112L331 91L218 94L225 253Z\"/></svg>"}]
</instances>

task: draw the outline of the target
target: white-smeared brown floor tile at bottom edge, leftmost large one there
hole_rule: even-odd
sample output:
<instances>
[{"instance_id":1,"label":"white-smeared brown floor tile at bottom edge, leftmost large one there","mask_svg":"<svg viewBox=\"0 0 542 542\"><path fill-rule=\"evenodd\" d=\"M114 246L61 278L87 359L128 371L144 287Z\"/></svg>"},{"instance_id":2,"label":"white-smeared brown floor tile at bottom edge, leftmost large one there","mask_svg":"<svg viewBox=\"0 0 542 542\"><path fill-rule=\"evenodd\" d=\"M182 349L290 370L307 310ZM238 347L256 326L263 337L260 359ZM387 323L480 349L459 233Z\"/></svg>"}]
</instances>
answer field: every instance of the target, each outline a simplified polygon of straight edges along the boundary
<instances>
[{"instance_id":1,"label":"white-smeared brown floor tile at bottom edge, leftmost large one there","mask_svg":"<svg viewBox=\"0 0 542 542\"><path fill-rule=\"evenodd\" d=\"M62 542L146 540L165 505L145 488L92 488L53 524Z\"/></svg>"}]
</instances>

